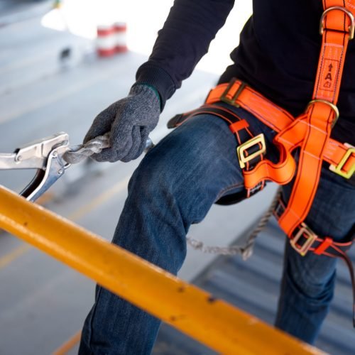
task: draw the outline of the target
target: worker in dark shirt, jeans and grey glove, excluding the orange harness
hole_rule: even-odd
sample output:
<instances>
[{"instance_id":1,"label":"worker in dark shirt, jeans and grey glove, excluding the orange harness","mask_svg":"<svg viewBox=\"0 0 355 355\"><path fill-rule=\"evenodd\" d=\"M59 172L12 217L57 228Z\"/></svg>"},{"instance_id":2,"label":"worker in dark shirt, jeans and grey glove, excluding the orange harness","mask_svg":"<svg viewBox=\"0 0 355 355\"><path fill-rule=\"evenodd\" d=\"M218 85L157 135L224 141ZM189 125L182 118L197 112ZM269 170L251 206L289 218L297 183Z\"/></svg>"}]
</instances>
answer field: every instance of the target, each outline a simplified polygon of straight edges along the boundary
<instances>
[{"instance_id":1,"label":"worker in dark shirt, jeans and grey glove, excluding the orange harness","mask_svg":"<svg viewBox=\"0 0 355 355\"><path fill-rule=\"evenodd\" d=\"M226 68L219 83L236 77L293 116L304 112L315 85L325 3L254 0L253 16L231 53L234 64ZM85 142L110 132L111 148L94 155L97 161L129 162L141 155L166 100L207 53L233 6L233 0L175 0L149 60L138 68L129 95L102 111L84 138ZM233 43L236 33L230 37ZM332 139L352 146L355 71L349 63L354 60L355 43L349 41L337 103L340 117L332 129ZM253 114L258 105L247 110L222 101L215 106L239 116L253 136L263 133L264 158L277 162L280 154L273 144L277 131ZM145 155L133 173L113 243L178 273L190 225L201 222L214 202L245 190L236 145L228 124L213 113L198 114L178 126ZM296 149L296 161L298 155ZM294 181L283 186L285 202ZM317 192L305 218L307 226L318 236L349 241L354 235L354 211L354 176L346 179L322 163ZM332 300L335 266L335 258L315 253L302 256L285 243L276 327L310 344L315 342ZM149 354L159 325L155 317L97 286L80 354Z\"/></svg>"}]
</instances>

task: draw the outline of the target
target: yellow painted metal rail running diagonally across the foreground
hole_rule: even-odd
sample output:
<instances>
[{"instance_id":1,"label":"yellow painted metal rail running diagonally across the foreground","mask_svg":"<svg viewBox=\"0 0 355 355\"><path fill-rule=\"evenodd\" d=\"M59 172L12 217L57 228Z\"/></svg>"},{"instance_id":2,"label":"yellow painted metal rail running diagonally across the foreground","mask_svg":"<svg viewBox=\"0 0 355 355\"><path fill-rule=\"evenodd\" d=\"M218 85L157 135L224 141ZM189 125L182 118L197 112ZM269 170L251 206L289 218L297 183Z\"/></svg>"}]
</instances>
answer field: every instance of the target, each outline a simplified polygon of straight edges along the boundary
<instances>
[{"instance_id":1,"label":"yellow painted metal rail running diagonally across the foreground","mask_svg":"<svg viewBox=\"0 0 355 355\"><path fill-rule=\"evenodd\" d=\"M324 354L0 187L0 228L222 354Z\"/></svg>"}]
</instances>

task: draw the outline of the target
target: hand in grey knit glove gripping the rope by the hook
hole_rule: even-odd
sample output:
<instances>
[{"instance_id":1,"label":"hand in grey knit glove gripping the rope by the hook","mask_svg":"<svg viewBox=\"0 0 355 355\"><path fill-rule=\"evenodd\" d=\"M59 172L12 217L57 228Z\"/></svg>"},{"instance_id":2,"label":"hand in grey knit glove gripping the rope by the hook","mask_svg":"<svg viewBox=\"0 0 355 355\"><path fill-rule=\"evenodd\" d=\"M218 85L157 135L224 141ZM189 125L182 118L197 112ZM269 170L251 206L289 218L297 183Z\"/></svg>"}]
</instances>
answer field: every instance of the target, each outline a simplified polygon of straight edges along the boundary
<instances>
[{"instance_id":1,"label":"hand in grey knit glove gripping the rope by the hook","mask_svg":"<svg viewBox=\"0 0 355 355\"><path fill-rule=\"evenodd\" d=\"M114 102L96 116L84 143L109 132L110 148L92 158L111 163L128 162L143 153L148 134L158 124L159 115L158 92L144 84L133 85L128 97Z\"/></svg>"}]
</instances>

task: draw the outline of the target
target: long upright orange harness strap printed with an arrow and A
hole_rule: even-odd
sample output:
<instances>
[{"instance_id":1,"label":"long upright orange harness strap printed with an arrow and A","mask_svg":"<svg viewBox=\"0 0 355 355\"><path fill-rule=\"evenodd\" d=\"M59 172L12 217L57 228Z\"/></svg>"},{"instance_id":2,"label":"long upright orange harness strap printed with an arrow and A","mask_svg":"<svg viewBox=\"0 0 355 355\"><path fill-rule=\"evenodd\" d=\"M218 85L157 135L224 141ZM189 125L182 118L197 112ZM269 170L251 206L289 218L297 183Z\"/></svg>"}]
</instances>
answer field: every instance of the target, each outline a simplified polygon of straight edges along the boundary
<instances>
[{"instance_id":1,"label":"long upright orange harness strap printed with an arrow and A","mask_svg":"<svg viewBox=\"0 0 355 355\"><path fill-rule=\"evenodd\" d=\"M337 103L349 40L349 15L344 13L344 7L337 7L344 6L343 2L323 2L322 49L313 101L305 116L305 136L300 137L302 143L293 190L285 212L278 221L288 236L293 235L295 228L304 221L310 211L320 180L324 149L332 126L337 120L334 104ZM304 119L304 116L300 118ZM301 123L302 121L297 119L297 125Z\"/></svg>"}]
</instances>

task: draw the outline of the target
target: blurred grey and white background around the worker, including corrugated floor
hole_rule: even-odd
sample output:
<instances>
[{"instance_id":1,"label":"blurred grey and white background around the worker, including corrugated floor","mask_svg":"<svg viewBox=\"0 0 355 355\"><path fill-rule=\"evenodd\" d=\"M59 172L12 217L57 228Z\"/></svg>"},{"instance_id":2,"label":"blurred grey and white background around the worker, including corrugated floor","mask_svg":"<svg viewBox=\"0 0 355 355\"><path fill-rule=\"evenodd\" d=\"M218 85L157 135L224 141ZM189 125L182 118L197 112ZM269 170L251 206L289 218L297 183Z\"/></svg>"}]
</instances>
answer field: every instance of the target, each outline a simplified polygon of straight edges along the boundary
<instances>
[{"instance_id":1,"label":"blurred grey and white background around the worker, including corrugated floor","mask_svg":"<svg viewBox=\"0 0 355 355\"><path fill-rule=\"evenodd\" d=\"M72 144L81 143L94 116L128 93L172 5L172 0L0 0L0 153L60 131L69 133ZM166 104L151 134L155 143L168 133L170 117L202 104L229 65L251 11L251 0L236 1L209 53ZM110 240L140 159L72 166L38 203ZM32 176L29 170L0 170L0 184L19 192ZM236 243L274 193L270 185L243 207L212 207L189 236L209 245ZM271 221L249 261L189 249L179 276L272 323L283 243ZM338 284L317 345L334 354L354 354L349 275L342 266ZM75 354L93 300L91 280L0 232L1 355L64 354L62 346L70 339L67 353ZM153 353L214 354L165 324Z\"/></svg>"}]
</instances>

